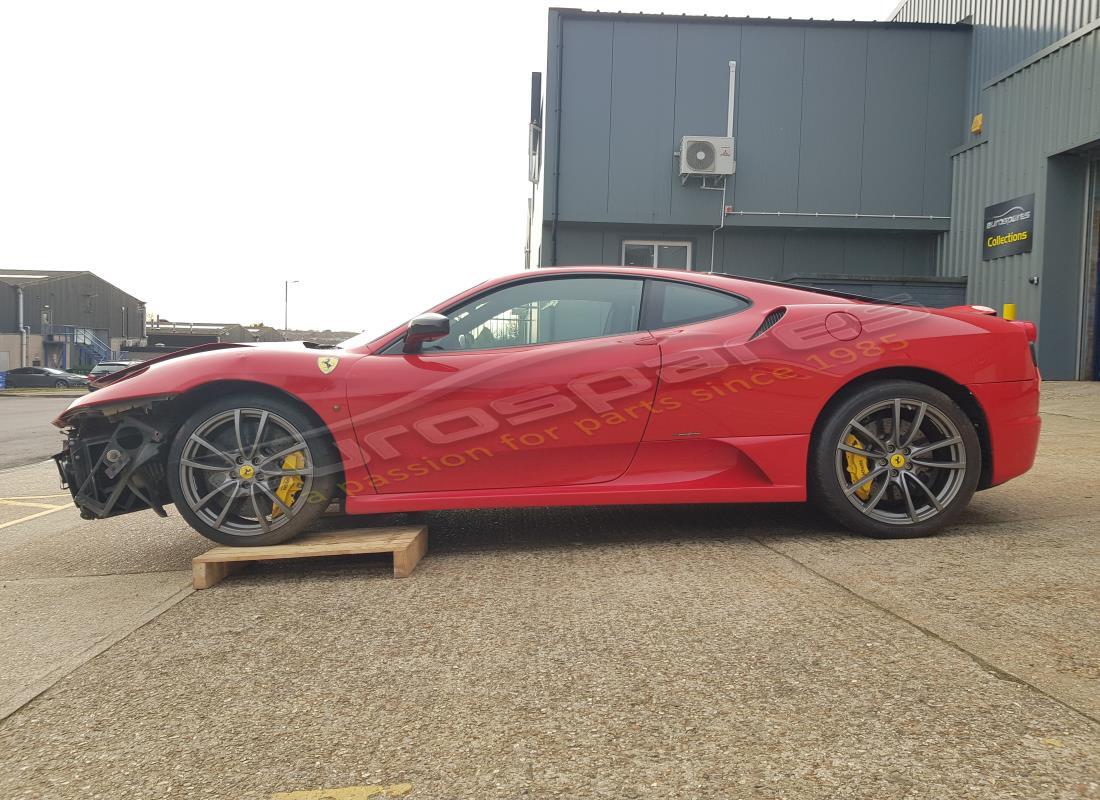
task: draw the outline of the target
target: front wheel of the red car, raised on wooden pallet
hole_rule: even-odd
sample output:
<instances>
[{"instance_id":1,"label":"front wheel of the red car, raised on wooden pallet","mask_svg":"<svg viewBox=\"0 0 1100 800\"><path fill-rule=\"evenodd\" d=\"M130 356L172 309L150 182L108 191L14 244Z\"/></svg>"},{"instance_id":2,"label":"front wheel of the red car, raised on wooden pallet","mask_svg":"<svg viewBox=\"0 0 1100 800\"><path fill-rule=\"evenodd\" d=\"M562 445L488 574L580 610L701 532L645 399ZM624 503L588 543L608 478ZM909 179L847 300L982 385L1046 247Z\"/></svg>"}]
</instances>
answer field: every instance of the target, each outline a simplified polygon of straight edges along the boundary
<instances>
[{"instance_id":1,"label":"front wheel of the red car, raised on wooden pallet","mask_svg":"<svg viewBox=\"0 0 1100 800\"><path fill-rule=\"evenodd\" d=\"M287 541L336 494L340 460L295 404L235 394L195 410L168 452L168 490L188 524L221 545Z\"/></svg>"}]
</instances>

